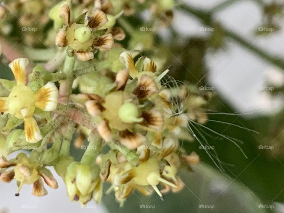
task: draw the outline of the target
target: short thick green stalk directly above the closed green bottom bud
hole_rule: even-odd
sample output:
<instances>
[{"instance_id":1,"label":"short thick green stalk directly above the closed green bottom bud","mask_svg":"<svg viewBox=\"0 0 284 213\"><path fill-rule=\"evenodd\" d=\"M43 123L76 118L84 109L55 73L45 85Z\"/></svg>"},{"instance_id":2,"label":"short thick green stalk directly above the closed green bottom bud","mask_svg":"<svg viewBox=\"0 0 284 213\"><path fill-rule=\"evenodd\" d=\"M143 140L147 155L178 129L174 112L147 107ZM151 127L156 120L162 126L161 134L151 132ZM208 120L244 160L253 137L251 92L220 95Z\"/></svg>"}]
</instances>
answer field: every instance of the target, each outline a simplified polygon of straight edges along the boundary
<instances>
[{"instance_id":1,"label":"short thick green stalk directly above the closed green bottom bud","mask_svg":"<svg viewBox=\"0 0 284 213\"><path fill-rule=\"evenodd\" d=\"M90 142L86 147L86 151L81 159L81 163L83 164L93 163L102 148L102 141L98 134L91 133L91 135L89 136L89 141Z\"/></svg>"}]
</instances>

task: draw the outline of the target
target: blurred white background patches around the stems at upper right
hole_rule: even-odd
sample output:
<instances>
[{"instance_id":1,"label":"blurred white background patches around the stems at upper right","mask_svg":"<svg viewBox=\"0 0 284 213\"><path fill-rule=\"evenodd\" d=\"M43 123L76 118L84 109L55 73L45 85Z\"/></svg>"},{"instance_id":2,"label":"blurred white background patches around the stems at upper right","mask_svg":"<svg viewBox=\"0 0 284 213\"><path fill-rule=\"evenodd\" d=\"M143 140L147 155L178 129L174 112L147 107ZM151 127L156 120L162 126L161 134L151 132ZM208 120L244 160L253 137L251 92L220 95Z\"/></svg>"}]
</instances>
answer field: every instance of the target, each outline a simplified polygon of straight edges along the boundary
<instances>
[{"instance_id":1,"label":"blurred white background patches around the stems at upper right","mask_svg":"<svg viewBox=\"0 0 284 213\"><path fill-rule=\"evenodd\" d=\"M190 0L190 5L196 8L210 9L223 0ZM189 4L189 3L188 3ZM262 49L284 57L284 31L273 33L269 36L255 36L254 31L262 25L260 6L255 1L236 0L235 4L223 9L215 15L215 20L227 29L246 38ZM276 21L283 26L283 18ZM196 18L185 16L183 12L176 12L173 25L184 36L206 36L205 31L200 31L203 26ZM232 40L225 40L226 49L215 53L208 52L206 64L210 70L207 78L208 84L214 86L229 103L239 112L252 112L255 115L273 113L283 107L283 99L268 92L259 90L267 79L266 72L276 72L277 67L272 67L263 59L255 56ZM272 77L276 78L274 73ZM276 79L283 79L278 76Z\"/></svg>"}]
</instances>

